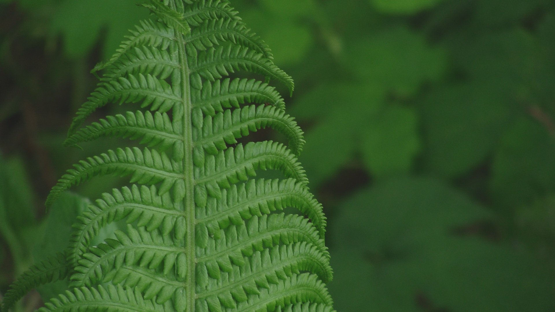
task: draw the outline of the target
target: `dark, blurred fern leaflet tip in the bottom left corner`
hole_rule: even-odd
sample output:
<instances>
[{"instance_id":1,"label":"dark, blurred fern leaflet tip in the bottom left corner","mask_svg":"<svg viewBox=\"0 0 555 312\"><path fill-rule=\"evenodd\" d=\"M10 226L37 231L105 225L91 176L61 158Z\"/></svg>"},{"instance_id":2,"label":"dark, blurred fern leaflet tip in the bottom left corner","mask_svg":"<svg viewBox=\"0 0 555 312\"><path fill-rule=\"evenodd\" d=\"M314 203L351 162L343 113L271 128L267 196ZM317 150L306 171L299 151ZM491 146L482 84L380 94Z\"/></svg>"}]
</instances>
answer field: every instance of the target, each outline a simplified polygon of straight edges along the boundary
<instances>
[{"instance_id":1,"label":"dark, blurred fern leaflet tip in the bottom left corner","mask_svg":"<svg viewBox=\"0 0 555 312\"><path fill-rule=\"evenodd\" d=\"M65 279L68 271L69 265L63 253L49 256L46 260L32 265L10 285L10 289L4 295L0 311L8 312L29 290L37 288L39 285Z\"/></svg>"}]
</instances>

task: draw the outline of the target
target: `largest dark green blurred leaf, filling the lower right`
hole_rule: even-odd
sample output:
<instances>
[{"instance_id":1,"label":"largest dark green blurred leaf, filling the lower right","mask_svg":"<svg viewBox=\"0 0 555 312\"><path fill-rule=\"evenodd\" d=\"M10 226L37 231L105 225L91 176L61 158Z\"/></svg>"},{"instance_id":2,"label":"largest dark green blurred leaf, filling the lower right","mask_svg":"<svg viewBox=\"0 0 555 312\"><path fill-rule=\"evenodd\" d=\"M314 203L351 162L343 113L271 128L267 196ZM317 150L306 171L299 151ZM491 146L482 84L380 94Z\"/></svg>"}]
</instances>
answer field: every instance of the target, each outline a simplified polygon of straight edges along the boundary
<instances>
[{"instance_id":1,"label":"largest dark green blurred leaf, filling the lower right","mask_svg":"<svg viewBox=\"0 0 555 312\"><path fill-rule=\"evenodd\" d=\"M472 233L491 214L438 180L381 182L340 211L330 224L338 311L555 308L552 272Z\"/></svg>"}]
</instances>

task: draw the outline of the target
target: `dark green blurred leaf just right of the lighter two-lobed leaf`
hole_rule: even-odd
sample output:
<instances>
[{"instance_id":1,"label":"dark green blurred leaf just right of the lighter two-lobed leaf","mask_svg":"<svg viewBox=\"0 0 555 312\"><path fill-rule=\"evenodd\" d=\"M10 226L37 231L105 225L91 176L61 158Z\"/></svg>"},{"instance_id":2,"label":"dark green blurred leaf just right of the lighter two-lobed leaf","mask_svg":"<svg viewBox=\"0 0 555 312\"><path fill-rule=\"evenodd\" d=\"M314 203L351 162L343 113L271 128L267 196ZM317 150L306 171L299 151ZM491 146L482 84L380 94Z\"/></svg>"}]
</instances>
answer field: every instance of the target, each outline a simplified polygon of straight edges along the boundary
<instances>
[{"instance_id":1,"label":"dark green blurred leaf just right of the lighter two-lobed leaf","mask_svg":"<svg viewBox=\"0 0 555 312\"><path fill-rule=\"evenodd\" d=\"M482 84L438 88L421 103L426 167L457 177L483 162L516 112L502 90Z\"/></svg>"}]
</instances>

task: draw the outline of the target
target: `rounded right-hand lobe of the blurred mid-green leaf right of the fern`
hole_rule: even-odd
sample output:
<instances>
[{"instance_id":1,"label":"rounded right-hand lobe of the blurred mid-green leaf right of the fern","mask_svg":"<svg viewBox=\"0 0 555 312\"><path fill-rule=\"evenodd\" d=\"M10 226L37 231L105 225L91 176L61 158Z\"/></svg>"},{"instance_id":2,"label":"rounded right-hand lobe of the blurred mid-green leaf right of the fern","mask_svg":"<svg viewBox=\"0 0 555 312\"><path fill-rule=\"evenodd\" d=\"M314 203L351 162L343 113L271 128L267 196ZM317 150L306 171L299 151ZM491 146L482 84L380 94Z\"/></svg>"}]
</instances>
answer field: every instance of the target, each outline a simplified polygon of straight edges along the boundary
<instances>
[{"instance_id":1,"label":"rounded right-hand lobe of the blurred mid-green leaf right of the fern","mask_svg":"<svg viewBox=\"0 0 555 312\"><path fill-rule=\"evenodd\" d=\"M361 129L361 148L375 175L407 173L420 150L417 117L412 109L390 106L369 119Z\"/></svg>"}]
</instances>

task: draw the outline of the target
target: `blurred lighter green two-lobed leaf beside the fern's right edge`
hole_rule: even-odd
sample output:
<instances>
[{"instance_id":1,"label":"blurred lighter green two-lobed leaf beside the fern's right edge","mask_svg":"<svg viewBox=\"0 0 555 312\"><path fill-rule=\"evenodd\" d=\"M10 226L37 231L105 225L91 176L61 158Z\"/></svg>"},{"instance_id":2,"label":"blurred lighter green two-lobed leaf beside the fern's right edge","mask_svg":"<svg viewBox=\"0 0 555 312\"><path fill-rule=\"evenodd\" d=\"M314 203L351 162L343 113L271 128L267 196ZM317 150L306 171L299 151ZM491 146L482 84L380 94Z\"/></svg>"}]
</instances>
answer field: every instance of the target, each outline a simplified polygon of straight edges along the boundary
<instances>
[{"instance_id":1,"label":"blurred lighter green two-lobed leaf beside the fern's right edge","mask_svg":"<svg viewBox=\"0 0 555 312\"><path fill-rule=\"evenodd\" d=\"M420 151L417 116L410 108L385 103L380 85L321 85L297 103L292 112L301 122L320 118L307 130L308 143L300 157L312 185L330 179L356 154L376 176L412 168Z\"/></svg>"}]
</instances>

